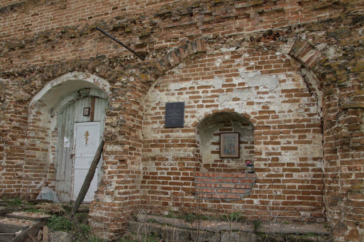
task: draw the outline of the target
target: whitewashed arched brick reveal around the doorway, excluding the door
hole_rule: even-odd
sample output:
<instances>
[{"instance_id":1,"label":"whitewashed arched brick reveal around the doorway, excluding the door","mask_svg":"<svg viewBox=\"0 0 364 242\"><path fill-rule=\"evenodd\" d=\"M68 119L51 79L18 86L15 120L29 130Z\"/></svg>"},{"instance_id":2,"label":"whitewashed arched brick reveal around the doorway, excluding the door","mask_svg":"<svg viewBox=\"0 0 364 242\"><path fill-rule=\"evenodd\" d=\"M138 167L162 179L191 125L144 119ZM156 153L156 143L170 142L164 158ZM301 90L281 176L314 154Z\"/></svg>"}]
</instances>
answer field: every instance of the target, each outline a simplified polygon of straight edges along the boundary
<instances>
[{"instance_id":1,"label":"whitewashed arched brick reveal around the doorway, excluding the door","mask_svg":"<svg viewBox=\"0 0 364 242\"><path fill-rule=\"evenodd\" d=\"M92 97L104 100L104 106L108 105L110 94L110 85L105 79L73 71L48 82L31 99L27 120L23 194L34 197L44 185L48 184L53 189L57 186L58 149L63 147L63 137L60 137L60 116L63 111L79 100L91 100ZM83 122L85 121L88 120L84 119ZM72 126L74 121L69 122ZM104 124L104 120L101 123Z\"/></svg>"}]
</instances>

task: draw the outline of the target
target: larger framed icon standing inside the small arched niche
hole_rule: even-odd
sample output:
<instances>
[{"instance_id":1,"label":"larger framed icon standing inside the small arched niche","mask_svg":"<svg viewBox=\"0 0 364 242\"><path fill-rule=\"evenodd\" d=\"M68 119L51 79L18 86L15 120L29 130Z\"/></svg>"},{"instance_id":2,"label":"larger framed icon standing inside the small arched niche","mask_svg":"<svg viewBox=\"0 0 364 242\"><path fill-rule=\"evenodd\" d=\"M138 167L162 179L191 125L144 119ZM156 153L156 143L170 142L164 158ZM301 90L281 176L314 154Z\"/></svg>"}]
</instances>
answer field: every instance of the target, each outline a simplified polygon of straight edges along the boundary
<instances>
[{"instance_id":1,"label":"larger framed icon standing inside the small arched niche","mask_svg":"<svg viewBox=\"0 0 364 242\"><path fill-rule=\"evenodd\" d=\"M220 133L220 158L240 157L240 133Z\"/></svg>"}]
</instances>

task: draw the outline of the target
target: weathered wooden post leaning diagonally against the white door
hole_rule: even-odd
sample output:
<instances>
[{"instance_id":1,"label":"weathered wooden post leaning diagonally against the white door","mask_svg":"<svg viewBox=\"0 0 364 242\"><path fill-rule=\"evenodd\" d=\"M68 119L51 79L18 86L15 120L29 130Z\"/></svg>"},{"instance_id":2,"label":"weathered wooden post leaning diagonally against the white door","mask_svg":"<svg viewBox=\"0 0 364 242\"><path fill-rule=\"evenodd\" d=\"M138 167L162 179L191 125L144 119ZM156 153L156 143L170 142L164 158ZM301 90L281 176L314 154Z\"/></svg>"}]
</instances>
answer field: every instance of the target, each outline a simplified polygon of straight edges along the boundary
<instances>
[{"instance_id":1,"label":"weathered wooden post leaning diagonally against the white door","mask_svg":"<svg viewBox=\"0 0 364 242\"><path fill-rule=\"evenodd\" d=\"M83 182L80 193L78 194L75 205L72 208L71 217L73 217L76 214L79 206L81 205L83 199L86 196L88 188L90 188L92 178L94 178L94 175L95 175L95 170L96 170L97 164L99 163L99 160L101 158L101 153L102 153L103 147L104 147L104 140L101 141L99 148L97 148L94 160L92 160L90 169L88 169L88 172L87 172L86 178Z\"/></svg>"}]
</instances>

